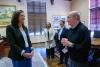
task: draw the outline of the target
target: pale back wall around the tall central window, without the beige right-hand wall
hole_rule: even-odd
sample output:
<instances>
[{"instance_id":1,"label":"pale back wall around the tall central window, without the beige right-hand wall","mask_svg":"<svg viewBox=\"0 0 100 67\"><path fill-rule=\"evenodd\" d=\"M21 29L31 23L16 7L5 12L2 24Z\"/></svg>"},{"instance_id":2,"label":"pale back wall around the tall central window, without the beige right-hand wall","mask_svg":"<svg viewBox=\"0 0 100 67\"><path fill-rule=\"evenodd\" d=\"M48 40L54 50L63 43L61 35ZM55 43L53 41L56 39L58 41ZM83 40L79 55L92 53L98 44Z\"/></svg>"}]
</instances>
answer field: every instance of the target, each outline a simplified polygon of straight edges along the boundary
<instances>
[{"instance_id":1,"label":"pale back wall around the tall central window, without the beige right-hand wall","mask_svg":"<svg viewBox=\"0 0 100 67\"><path fill-rule=\"evenodd\" d=\"M54 16L54 15L57 15L57 16L64 15L64 16L66 16L67 13L70 11L70 2L68 2L68 1L55 0L54 5L51 5L50 0L46 0L46 1L47 1L47 4L46 4L47 22L50 21L52 23L52 16ZM17 0L0 0L0 5L16 5L17 10L19 10L19 9L24 10L25 14L26 14L25 25L28 26L26 0L22 0L21 3L18 3ZM5 28L0 28L0 34L2 34L3 36L6 36ZM30 35L30 39L31 39L32 43L44 42L45 41L44 36Z\"/></svg>"}]
</instances>

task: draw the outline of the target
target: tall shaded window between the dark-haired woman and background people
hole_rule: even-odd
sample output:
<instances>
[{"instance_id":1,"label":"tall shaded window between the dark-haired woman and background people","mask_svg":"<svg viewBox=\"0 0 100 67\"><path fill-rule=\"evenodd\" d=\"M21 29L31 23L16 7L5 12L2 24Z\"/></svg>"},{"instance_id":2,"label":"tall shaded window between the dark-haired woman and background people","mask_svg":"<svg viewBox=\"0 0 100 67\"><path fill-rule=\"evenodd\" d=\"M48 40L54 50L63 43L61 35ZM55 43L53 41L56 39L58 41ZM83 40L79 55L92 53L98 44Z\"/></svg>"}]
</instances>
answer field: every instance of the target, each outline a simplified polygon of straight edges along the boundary
<instances>
[{"instance_id":1,"label":"tall shaded window between the dark-haired woman and background people","mask_svg":"<svg viewBox=\"0 0 100 67\"><path fill-rule=\"evenodd\" d=\"M34 0L27 3L29 32L41 35L46 25L46 0Z\"/></svg>"}]
</instances>

